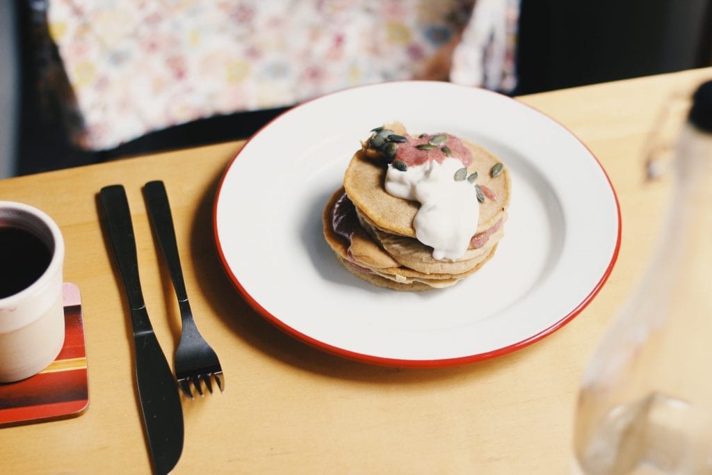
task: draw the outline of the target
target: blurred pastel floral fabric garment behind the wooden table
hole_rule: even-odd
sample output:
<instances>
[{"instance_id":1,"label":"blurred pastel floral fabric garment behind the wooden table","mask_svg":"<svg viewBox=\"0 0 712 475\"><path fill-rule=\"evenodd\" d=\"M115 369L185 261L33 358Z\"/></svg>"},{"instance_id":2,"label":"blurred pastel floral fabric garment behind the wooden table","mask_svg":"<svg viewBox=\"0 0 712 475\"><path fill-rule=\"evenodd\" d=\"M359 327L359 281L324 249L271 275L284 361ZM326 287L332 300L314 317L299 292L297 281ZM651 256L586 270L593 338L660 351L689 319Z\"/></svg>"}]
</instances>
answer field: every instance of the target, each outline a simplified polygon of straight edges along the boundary
<instances>
[{"instance_id":1,"label":"blurred pastel floral fabric garment behind the wooden table","mask_svg":"<svg viewBox=\"0 0 712 475\"><path fill-rule=\"evenodd\" d=\"M511 90L518 0L51 0L78 145L384 80Z\"/></svg>"}]
</instances>

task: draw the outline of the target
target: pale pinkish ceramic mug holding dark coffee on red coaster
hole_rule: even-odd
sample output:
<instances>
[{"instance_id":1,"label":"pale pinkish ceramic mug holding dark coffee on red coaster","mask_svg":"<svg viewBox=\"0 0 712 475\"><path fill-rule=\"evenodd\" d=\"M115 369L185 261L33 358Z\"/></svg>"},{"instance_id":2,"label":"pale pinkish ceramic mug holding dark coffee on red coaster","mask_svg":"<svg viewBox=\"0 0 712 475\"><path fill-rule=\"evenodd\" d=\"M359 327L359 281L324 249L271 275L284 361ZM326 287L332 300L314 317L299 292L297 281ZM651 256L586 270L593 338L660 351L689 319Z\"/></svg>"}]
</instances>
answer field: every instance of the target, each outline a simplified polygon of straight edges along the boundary
<instances>
[{"instance_id":1,"label":"pale pinkish ceramic mug holding dark coffee on red coaster","mask_svg":"<svg viewBox=\"0 0 712 475\"><path fill-rule=\"evenodd\" d=\"M59 226L27 204L0 201L0 382L46 368L64 345Z\"/></svg>"}]
</instances>

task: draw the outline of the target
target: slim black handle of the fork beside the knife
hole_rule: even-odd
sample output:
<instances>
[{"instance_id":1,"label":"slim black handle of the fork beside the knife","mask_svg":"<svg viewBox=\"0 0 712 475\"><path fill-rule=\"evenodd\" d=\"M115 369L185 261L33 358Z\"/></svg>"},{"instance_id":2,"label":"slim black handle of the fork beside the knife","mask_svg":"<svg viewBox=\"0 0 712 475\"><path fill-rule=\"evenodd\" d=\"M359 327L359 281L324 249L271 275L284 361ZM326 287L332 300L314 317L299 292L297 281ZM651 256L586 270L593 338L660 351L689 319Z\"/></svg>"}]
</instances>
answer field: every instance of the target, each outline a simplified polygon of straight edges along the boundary
<instances>
[{"instance_id":1,"label":"slim black handle of the fork beside the knife","mask_svg":"<svg viewBox=\"0 0 712 475\"><path fill-rule=\"evenodd\" d=\"M153 231L158 237L159 246L161 246L163 255L166 258L168 271L171 274L178 301L187 301L188 294L185 290L183 271L180 266L176 231L173 226L173 216L168 202L166 187L162 181L156 180L145 184L143 192L148 206L148 215L153 224Z\"/></svg>"}]
</instances>

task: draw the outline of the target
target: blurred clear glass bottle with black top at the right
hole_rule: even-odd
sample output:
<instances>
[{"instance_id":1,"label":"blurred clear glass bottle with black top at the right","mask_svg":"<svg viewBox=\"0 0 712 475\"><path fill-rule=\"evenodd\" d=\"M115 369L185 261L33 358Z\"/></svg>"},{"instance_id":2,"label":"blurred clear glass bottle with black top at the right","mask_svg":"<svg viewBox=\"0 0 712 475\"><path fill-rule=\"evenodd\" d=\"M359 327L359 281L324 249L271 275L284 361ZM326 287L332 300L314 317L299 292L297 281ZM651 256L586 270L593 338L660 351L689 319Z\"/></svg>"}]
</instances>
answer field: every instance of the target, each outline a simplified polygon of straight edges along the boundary
<instances>
[{"instance_id":1,"label":"blurred clear glass bottle with black top at the right","mask_svg":"<svg viewBox=\"0 0 712 475\"><path fill-rule=\"evenodd\" d=\"M651 265L584 375L583 474L712 474L712 81L693 95Z\"/></svg>"}]
</instances>

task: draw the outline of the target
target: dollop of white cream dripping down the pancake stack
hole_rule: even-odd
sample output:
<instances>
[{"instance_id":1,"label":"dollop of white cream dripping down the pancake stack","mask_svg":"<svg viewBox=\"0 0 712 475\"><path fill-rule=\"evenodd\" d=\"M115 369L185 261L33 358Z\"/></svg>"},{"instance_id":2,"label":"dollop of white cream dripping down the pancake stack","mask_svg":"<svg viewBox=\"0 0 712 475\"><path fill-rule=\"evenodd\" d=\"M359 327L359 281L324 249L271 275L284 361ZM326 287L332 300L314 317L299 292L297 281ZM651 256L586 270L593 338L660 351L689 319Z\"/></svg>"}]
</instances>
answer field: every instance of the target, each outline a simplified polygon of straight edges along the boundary
<instances>
[{"instance_id":1,"label":"dollop of white cream dripping down the pancake stack","mask_svg":"<svg viewBox=\"0 0 712 475\"><path fill-rule=\"evenodd\" d=\"M433 248L434 259L459 259L477 231L480 216L473 184L454 178L469 160L443 155L418 165L408 160L412 165L404 167L398 158L388 165L386 192L420 203L413 226L418 241Z\"/></svg>"}]
</instances>

